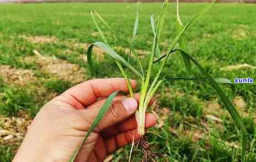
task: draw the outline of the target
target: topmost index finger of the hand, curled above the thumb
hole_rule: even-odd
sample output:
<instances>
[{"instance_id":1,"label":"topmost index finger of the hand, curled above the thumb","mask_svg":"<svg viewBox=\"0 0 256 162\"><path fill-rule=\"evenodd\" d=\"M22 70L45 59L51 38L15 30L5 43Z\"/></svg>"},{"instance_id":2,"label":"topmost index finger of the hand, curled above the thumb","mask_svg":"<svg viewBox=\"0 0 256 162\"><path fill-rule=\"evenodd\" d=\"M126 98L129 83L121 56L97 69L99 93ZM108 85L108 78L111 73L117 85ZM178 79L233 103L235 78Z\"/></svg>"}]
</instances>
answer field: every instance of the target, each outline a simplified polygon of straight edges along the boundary
<instances>
[{"instance_id":1,"label":"topmost index finger of the hand, curled above the thumb","mask_svg":"<svg viewBox=\"0 0 256 162\"><path fill-rule=\"evenodd\" d=\"M137 82L130 80L132 88L136 87ZM88 106L97 101L98 98L108 97L115 91L128 92L126 80L123 78L111 78L111 79L94 79L89 80L79 85L76 85L69 90L62 93L62 100L69 102L71 106L81 109L82 106L76 102L81 103L83 106Z\"/></svg>"}]
</instances>

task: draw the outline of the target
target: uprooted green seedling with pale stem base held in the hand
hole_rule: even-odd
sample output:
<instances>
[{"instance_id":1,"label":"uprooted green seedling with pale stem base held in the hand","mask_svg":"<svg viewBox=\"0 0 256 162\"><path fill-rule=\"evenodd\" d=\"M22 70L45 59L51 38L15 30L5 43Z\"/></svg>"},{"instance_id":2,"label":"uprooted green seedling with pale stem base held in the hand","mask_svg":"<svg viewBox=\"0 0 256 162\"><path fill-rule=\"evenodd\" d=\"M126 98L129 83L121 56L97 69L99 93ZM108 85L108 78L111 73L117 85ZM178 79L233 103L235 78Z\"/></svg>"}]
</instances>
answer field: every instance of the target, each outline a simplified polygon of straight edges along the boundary
<instances>
[{"instance_id":1,"label":"uprooted green seedling with pale stem base held in the hand","mask_svg":"<svg viewBox=\"0 0 256 162\"><path fill-rule=\"evenodd\" d=\"M203 69L203 67L200 64L198 64L198 62L194 58L192 58L189 54L187 54L188 49L187 49L186 38L184 35L185 30L187 28L189 28L192 24L194 24L197 19L202 17L202 15L207 12L207 10L212 6L212 4L214 2L215 1L213 1L209 6L204 8L201 12L196 14L195 17L192 18L190 20L190 22L187 23L185 26L181 22L181 19L179 16L179 3L177 2L177 30L178 30L179 34L177 34L173 43L170 45L169 50L168 50L169 52L160 56L156 60L155 60L155 56L160 55L159 40L161 38L161 34L163 32L163 27L165 25L166 8L168 7L168 1L165 1L163 3L163 6L161 7L161 11L160 11L160 14L158 17L158 23L156 25L155 25L155 21L154 21L154 16L151 15L150 21L151 21L151 28L152 28L153 34L154 34L154 39L153 39L153 46L151 48L150 59L148 62L147 72L144 71L142 63L141 63L141 61L138 57L138 54L135 51L135 47L134 47L135 46L134 40L137 35L138 23L139 23L138 9L137 9L137 17L135 18L135 23L134 23L133 36L130 41L127 40L126 38L124 38L124 36L117 35L116 32L114 32L114 30L111 27L109 27L109 25L105 22L105 20L100 16L100 14L98 14L96 11L92 11L91 15L92 15L93 22L95 23L98 33L100 34L103 42L97 41L96 43L93 43L92 45L89 46L88 51L87 51L87 60L88 60L88 64L89 64L91 70L97 72L97 70L93 67L93 63L92 63L93 46L98 46L98 48L101 48L103 51L105 51L106 54L111 56L111 58L113 58L114 61L116 62L122 75L127 80L127 86L129 88L130 97L133 97L134 95L133 95L133 90L132 90L130 82L129 82L129 77L128 77L129 71L132 71L135 75L140 77L142 84L141 84L141 90L140 90L139 108L135 114L137 123L138 123L138 133L140 135L145 134L145 113L146 113L146 110L148 107L148 103L150 102L150 98L153 97L154 93L156 92L156 90L158 90L161 83L163 83L165 81L173 81L173 80L195 80L195 81L202 81L202 82L210 83L212 85L212 87L215 88L215 90L216 90L217 94L219 95L219 97L221 98L223 104L226 106L227 111L229 112L229 114L231 114L231 117L236 122L237 127L242 132L242 135L243 135L242 157L244 160L245 144L246 144L246 139L247 139L246 130L244 128L241 117L239 116L236 108L234 108L231 101L229 101L228 97L224 94L224 92L222 91L220 86L218 86L218 83L227 83L229 85L232 85L232 82L229 81L228 79L224 79L224 78L213 79L207 73L207 71L205 69ZM96 17L95 17L95 15L96 15ZM127 60L124 59L121 55L118 55L111 48L111 46L109 46L108 41L107 41L104 33L102 32L102 29L98 25L96 18L101 20L101 22L107 27L109 32L111 32L118 40L123 41L129 47L129 55L128 55ZM177 48L177 46L179 46L179 48ZM181 54L182 60L184 61L184 64L185 64L187 73L189 74L189 77L170 77L170 76L168 76L168 77L163 77L163 79L160 79L160 77L162 77L161 72L163 71L166 61L168 60L169 56L174 54L176 51L178 51ZM139 70L137 70L133 65L130 64L129 59L130 59L131 55L133 55L135 57L135 59L137 59L138 65L139 65ZM156 62L160 62L160 64L158 64L159 65L158 72L156 72L154 79L152 81L151 77L153 76L153 72L152 72L153 66L156 65L155 64ZM200 73L201 73L201 75L203 75L203 77L196 76L194 74L194 72L191 71L191 66L192 66L191 63L193 63L197 67L198 71L200 71ZM127 67L127 69L124 69L123 66ZM232 90L234 92L233 85L232 85ZM113 95L115 95L115 94L116 94L116 92L113 93ZM113 96L110 96L110 97L113 97ZM106 102L106 104L108 104L108 106L103 106L102 109L107 110L111 104L111 101L112 100L108 100ZM102 117L102 114L97 116L95 121L100 121L101 117ZM93 125L91 127L92 129L90 129L90 130L93 130L94 127L95 127L95 125ZM86 134L85 140L88 137L88 134L90 134L90 131ZM78 150L76 150L76 154L77 154ZM73 156L73 157L75 157L75 156Z\"/></svg>"}]
</instances>

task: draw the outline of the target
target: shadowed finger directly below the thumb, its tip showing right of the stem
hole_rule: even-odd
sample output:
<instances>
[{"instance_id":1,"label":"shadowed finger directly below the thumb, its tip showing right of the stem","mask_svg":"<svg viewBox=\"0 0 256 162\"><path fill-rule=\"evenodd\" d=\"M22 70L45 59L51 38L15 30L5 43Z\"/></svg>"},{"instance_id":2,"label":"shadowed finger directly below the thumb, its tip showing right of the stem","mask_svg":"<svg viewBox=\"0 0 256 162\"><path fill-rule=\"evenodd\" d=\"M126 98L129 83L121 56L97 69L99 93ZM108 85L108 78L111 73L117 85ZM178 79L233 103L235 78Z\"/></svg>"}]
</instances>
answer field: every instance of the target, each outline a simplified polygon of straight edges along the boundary
<instances>
[{"instance_id":1,"label":"shadowed finger directly below the thumb, its tip showing right of the stem","mask_svg":"<svg viewBox=\"0 0 256 162\"><path fill-rule=\"evenodd\" d=\"M151 113L146 114L145 128L153 127L156 124L156 116ZM127 130L132 130L137 128L137 121L135 116L129 117L122 122L117 123L101 132L102 138L109 138L119 132L126 132Z\"/></svg>"}]
</instances>

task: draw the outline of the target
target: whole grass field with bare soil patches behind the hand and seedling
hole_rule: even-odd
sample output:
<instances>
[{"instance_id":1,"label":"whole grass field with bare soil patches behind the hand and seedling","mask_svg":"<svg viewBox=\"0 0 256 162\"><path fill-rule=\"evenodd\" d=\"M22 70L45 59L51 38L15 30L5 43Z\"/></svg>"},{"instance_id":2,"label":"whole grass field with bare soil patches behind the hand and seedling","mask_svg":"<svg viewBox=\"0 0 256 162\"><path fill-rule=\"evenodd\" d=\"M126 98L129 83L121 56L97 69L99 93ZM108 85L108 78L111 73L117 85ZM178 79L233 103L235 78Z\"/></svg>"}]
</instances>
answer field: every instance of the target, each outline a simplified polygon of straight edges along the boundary
<instances>
[{"instance_id":1,"label":"whole grass field with bare soil patches behind the hand and seedling","mask_svg":"<svg viewBox=\"0 0 256 162\"><path fill-rule=\"evenodd\" d=\"M181 3L183 22L206 3ZM190 54L214 77L256 78L256 12L253 4L214 4L185 32ZM150 15L160 3L140 4L135 46L147 66L153 33ZM92 79L86 62L89 44L101 40L90 17L91 9L114 30L131 38L135 3L0 4L0 161L11 161L31 119L44 103L76 83ZM176 35L175 4L169 4L168 25L160 49L164 53ZM121 54L127 46L106 33ZM33 50L41 54L36 54ZM132 60L135 64L135 60ZM115 62L97 51L97 77L121 77ZM156 72L156 69L154 70ZM196 70L195 70L196 71ZM199 74L199 72L196 72ZM186 76L179 55L174 55L163 76ZM133 77L133 76L131 76ZM133 77L136 79L136 77ZM239 161L239 130L211 86L201 82L165 83L151 107L158 114L155 128L145 138L158 161ZM167 88L166 88L167 87ZM229 87L222 86L228 96ZM248 131L247 160L256 160L256 84L237 84L233 100ZM138 90L139 91L139 90ZM222 109L223 108L223 109ZM130 146L109 156L126 161ZM147 152L150 156L150 151ZM133 161L142 159L134 151Z\"/></svg>"}]
</instances>

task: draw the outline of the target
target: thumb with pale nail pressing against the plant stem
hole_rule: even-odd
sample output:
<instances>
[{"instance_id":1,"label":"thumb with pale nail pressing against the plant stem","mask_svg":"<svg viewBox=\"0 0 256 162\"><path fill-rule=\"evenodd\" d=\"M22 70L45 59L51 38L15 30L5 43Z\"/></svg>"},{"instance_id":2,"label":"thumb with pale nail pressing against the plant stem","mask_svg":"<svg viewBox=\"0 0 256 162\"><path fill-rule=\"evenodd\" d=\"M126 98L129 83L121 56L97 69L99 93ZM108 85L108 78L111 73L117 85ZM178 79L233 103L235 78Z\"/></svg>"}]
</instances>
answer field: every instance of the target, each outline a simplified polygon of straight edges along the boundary
<instances>
[{"instance_id":1,"label":"thumb with pale nail pressing against the plant stem","mask_svg":"<svg viewBox=\"0 0 256 162\"><path fill-rule=\"evenodd\" d=\"M92 121L90 121L92 123L93 120L97 117L102 105L103 103L94 107L92 104L90 108L84 109L83 116L87 119L91 119ZM108 128L109 126L121 122L134 114L137 108L138 102L135 98L122 98L121 100L113 101L111 107L109 107L107 113L102 118L97 128L101 131Z\"/></svg>"}]
</instances>

